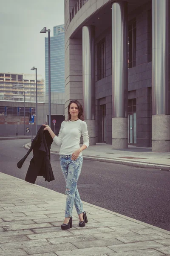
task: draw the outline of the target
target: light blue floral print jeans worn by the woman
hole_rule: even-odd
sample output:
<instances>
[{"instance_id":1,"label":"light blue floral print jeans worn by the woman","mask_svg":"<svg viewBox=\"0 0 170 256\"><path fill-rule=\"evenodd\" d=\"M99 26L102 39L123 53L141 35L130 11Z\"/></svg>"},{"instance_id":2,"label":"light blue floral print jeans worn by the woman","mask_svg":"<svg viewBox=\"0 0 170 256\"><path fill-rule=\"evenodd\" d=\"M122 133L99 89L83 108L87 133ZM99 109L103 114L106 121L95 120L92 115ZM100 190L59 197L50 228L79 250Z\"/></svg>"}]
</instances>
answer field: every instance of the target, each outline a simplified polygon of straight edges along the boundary
<instances>
[{"instance_id":1,"label":"light blue floral print jeans worn by the woman","mask_svg":"<svg viewBox=\"0 0 170 256\"><path fill-rule=\"evenodd\" d=\"M65 217L72 216L73 205L75 205L77 214L84 212L82 201L77 189L77 180L79 178L82 169L82 156L79 156L77 160L71 160L72 155L60 155L60 165L62 173L66 181L66 206Z\"/></svg>"}]
</instances>

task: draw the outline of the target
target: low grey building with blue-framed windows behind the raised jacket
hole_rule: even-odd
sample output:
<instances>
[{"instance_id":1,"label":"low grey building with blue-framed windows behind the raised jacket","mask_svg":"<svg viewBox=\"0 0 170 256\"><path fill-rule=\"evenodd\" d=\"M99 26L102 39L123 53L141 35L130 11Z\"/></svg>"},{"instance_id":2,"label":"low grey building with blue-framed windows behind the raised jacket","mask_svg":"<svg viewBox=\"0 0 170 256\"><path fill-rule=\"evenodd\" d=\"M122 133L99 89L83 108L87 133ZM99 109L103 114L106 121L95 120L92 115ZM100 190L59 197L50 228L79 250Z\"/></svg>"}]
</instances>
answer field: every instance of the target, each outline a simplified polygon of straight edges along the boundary
<instances>
[{"instance_id":1,"label":"low grey building with blue-framed windows behind the raised jacket","mask_svg":"<svg viewBox=\"0 0 170 256\"><path fill-rule=\"evenodd\" d=\"M32 128L33 135L36 134L36 118L34 125L29 125L28 112L35 115L36 103L25 103L25 128ZM38 103L38 129L42 124L48 122L48 103ZM56 119L52 130L59 134L61 122L64 120L64 105L51 104L51 120ZM26 132L26 131L25 131ZM23 102L0 102L0 136L23 135L24 134L24 103Z\"/></svg>"}]
</instances>

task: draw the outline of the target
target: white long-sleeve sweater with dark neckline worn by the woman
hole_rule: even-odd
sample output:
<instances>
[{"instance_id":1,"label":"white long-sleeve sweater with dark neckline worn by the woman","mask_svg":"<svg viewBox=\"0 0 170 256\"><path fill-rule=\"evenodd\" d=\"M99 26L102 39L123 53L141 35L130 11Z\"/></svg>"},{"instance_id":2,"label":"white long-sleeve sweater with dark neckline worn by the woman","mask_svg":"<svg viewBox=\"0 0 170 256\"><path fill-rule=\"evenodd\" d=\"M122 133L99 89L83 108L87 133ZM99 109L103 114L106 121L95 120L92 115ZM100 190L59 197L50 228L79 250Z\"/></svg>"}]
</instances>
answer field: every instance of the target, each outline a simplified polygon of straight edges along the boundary
<instances>
[{"instance_id":1,"label":"white long-sleeve sweater with dark neckline worn by the woman","mask_svg":"<svg viewBox=\"0 0 170 256\"><path fill-rule=\"evenodd\" d=\"M83 145L89 146L88 127L86 122L78 119L77 121L63 121L59 130L59 136L53 138L54 142L60 146L60 155L71 155L79 148L80 137L83 137ZM79 154L80 156L82 153Z\"/></svg>"}]
</instances>

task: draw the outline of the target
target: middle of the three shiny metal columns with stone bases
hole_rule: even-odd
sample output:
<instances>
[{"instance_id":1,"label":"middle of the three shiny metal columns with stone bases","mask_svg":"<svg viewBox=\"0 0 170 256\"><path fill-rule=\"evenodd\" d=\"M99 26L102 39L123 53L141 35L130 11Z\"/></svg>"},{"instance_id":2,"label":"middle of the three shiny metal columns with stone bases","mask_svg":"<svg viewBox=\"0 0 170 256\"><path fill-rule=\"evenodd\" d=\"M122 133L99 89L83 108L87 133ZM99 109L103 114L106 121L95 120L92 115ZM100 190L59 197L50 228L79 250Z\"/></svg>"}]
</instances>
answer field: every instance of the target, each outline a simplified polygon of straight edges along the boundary
<instances>
[{"instance_id":1,"label":"middle of the three shiny metal columns with stone bases","mask_svg":"<svg viewBox=\"0 0 170 256\"><path fill-rule=\"evenodd\" d=\"M127 148L127 2L112 3L112 145Z\"/></svg>"}]
</instances>

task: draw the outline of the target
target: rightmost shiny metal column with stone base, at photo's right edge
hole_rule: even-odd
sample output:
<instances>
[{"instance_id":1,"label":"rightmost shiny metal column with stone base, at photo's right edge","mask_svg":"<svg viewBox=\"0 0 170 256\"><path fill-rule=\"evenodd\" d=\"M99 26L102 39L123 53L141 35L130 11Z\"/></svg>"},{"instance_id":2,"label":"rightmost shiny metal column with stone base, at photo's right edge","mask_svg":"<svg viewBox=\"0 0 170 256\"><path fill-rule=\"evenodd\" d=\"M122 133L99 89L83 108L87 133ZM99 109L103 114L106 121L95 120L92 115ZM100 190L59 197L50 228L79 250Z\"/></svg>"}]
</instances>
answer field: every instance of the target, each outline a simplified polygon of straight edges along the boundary
<instances>
[{"instance_id":1,"label":"rightmost shiny metal column with stone base, at photo's right edge","mask_svg":"<svg viewBox=\"0 0 170 256\"><path fill-rule=\"evenodd\" d=\"M152 151L170 152L169 0L152 0Z\"/></svg>"}]
</instances>

